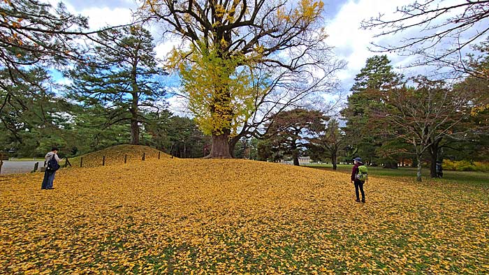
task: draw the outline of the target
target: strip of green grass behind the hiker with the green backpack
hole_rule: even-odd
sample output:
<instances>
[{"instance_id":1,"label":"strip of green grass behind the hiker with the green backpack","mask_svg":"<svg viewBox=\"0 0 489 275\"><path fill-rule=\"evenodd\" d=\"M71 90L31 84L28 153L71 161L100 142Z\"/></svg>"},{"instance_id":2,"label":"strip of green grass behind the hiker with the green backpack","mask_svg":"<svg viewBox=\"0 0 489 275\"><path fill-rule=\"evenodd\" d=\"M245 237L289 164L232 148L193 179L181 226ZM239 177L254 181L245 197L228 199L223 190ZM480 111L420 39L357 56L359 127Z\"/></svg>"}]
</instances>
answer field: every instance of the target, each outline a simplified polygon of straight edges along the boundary
<instances>
[{"instance_id":1,"label":"strip of green grass behind the hiker with the green backpack","mask_svg":"<svg viewBox=\"0 0 489 275\"><path fill-rule=\"evenodd\" d=\"M312 164L305 165L310 168L317 168L323 170L332 170L333 165L331 164ZM352 165L338 165L337 171L344 173L351 173ZM387 169L381 167L368 167L369 174L373 177L404 177L410 179L416 179L416 168L397 168L397 169ZM460 172L460 171L444 171L443 179L431 179L430 170L421 170L423 176L423 181L437 181L441 183L455 183L455 184L469 184L472 186L479 186L483 188L489 188L489 173L488 172Z\"/></svg>"}]
</instances>

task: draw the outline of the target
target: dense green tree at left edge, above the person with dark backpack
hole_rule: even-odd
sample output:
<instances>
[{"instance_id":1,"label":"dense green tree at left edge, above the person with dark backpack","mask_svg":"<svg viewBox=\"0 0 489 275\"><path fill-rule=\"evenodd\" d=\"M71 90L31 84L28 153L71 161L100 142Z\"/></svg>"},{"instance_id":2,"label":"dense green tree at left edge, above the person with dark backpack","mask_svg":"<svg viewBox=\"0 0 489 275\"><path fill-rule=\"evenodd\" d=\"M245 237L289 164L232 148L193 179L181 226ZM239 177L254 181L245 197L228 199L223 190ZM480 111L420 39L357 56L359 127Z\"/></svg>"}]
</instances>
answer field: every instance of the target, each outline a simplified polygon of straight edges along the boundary
<instances>
[{"instance_id":1,"label":"dense green tree at left edge, above the person with dark backpack","mask_svg":"<svg viewBox=\"0 0 489 275\"><path fill-rule=\"evenodd\" d=\"M13 150L17 156L39 156L54 145L73 148L76 140L67 133L73 129L71 110L75 106L51 89L55 85L42 68L19 70L0 71L0 77L8 79L11 75L16 79L0 85L0 98L4 98L0 150Z\"/></svg>"}]
</instances>

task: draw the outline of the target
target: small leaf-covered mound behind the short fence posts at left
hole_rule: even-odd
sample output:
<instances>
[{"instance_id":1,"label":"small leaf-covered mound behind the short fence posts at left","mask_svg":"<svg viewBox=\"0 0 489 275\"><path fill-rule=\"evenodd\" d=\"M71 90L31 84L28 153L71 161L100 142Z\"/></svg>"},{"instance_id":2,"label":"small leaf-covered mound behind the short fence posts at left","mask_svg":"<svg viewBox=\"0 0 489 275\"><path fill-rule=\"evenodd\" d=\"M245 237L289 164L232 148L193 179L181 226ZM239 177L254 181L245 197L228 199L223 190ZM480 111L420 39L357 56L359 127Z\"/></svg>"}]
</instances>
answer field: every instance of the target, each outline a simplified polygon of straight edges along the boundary
<instances>
[{"instance_id":1,"label":"small leaf-covered mound behind the short fence posts at left","mask_svg":"<svg viewBox=\"0 0 489 275\"><path fill-rule=\"evenodd\" d=\"M105 156L105 165L113 165L124 163L124 156L126 155L128 163L141 161L143 159L143 153L145 154L145 159L147 160L151 158L158 158L158 154L160 154L160 158L171 157L170 155L163 153L163 151L159 151L151 147L123 144L94 151L83 156L69 158L69 161L72 167L80 167L80 161L81 158L83 158L83 167L98 167L102 166L103 156ZM64 161L61 162L61 165L64 165Z\"/></svg>"}]
</instances>

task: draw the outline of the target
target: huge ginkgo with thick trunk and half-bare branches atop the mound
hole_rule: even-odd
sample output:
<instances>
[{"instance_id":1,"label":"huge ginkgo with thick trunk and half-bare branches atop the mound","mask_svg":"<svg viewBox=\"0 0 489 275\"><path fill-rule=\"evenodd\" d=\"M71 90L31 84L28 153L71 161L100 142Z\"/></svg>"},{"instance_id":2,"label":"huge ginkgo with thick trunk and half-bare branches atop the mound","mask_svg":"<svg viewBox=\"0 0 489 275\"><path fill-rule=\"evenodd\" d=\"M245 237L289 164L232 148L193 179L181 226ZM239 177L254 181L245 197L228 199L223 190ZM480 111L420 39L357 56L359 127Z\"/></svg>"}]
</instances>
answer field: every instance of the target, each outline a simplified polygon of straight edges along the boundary
<instances>
[{"instance_id":1,"label":"huge ginkgo with thick trunk and half-bare branches atop the mound","mask_svg":"<svg viewBox=\"0 0 489 275\"><path fill-rule=\"evenodd\" d=\"M326 45L322 1L147 0L141 11L182 40L168 65L212 135L210 158L231 158L235 142L259 133L272 114L332 89L344 66Z\"/></svg>"}]
</instances>

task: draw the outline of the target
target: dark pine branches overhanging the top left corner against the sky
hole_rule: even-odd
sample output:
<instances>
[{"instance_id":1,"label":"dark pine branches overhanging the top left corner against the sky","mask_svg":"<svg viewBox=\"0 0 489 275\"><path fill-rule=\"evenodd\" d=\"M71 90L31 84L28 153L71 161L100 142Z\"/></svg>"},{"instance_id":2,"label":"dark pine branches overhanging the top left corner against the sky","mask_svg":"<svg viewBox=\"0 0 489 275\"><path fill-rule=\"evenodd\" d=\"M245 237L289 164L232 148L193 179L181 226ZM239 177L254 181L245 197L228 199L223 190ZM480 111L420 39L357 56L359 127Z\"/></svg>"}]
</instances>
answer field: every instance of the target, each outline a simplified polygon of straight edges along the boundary
<instances>
[{"instance_id":1,"label":"dark pine branches overhanging the top left corner against the sky","mask_svg":"<svg viewBox=\"0 0 489 275\"><path fill-rule=\"evenodd\" d=\"M86 17L71 15L63 3L52 7L38 0L1 1L0 66L15 81L36 65L78 59L74 39L88 27Z\"/></svg>"}]
</instances>

